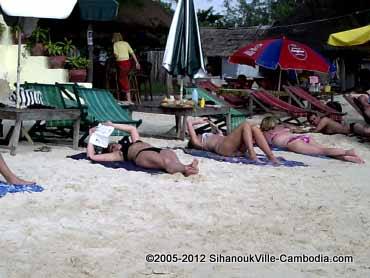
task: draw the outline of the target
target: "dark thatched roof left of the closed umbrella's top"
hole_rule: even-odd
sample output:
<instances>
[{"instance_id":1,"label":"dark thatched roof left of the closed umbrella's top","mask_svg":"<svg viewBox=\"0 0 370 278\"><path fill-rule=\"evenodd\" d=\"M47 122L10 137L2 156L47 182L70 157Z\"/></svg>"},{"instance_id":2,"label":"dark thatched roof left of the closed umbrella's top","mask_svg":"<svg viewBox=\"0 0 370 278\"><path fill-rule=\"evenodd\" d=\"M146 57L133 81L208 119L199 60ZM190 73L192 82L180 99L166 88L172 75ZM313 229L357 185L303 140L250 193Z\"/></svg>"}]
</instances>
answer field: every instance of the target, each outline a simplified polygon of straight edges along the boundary
<instances>
[{"instance_id":1,"label":"dark thatched roof left of the closed umbrella's top","mask_svg":"<svg viewBox=\"0 0 370 278\"><path fill-rule=\"evenodd\" d=\"M172 15L158 2L141 0L125 1L120 5L116 21L128 26L141 26L148 29L169 28Z\"/></svg>"}]
</instances>

